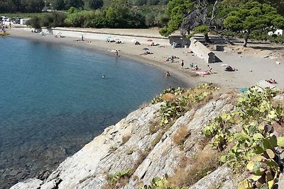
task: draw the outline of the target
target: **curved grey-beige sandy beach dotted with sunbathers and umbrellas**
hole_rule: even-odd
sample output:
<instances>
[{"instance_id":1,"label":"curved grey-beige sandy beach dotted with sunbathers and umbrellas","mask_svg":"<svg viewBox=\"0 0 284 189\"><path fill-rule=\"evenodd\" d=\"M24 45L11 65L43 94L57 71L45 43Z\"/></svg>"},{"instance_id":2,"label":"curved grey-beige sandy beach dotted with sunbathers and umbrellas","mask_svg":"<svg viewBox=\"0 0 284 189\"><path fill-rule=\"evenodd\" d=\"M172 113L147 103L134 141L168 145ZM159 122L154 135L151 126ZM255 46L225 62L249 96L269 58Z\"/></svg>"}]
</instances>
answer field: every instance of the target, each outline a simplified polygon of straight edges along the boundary
<instances>
[{"instance_id":1,"label":"curved grey-beige sandy beach dotted with sunbathers and umbrellas","mask_svg":"<svg viewBox=\"0 0 284 189\"><path fill-rule=\"evenodd\" d=\"M102 29L101 29L102 30ZM109 30L109 33L127 33L143 35L158 36L158 29L148 30ZM105 31L105 30L104 30ZM109 55L115 56L114 50L119 50L119 56L127 57L144 64L150 64L153 67L158 67L165 73L170 71L172 76L184 81L188 86L196 86L202 83L213 83L224 90L236 90L256 85L260 80L275 79L278 84L277 88L284 88L284 45L267 45L258 43L249 43L249 47L244 49L240 46L226 47L224 52L214 53L222 60L222 62L212 63L213 74L200 76L192 71L186 69L190 67L190 63L198 64L201 71L207 71L207 63L202 59L190 53L189 48L175 48L168 45L151 46L151 42L141 42L141 45L133 45L131 42L124 42L123 44L116 44L115 42L106 42L105 40L89 40L80 41L78 38L55 38L55 35L40 35L39 33L31 33L27 30L12 29L8 31L11 37L26 38L29 40L36 40L41 42L53 42L60 45L68 45L73 47L84 48L87 50L94 50ZM153 39L155 42L155 39ZM236 43L239 44L239 43ZM268 46L268 47L267 47ZM151 52L149 55L141 55L147 47ZM241 52L241 54L239 53ZM282 53L282 55L281 55ZM165 62L167 57L174 55L178 57L174 62ZM183 69L180 62L183 59L185 65ZM279 64L278 64L279 62ZM229 64L238 71L224 71L225 67L222 64Z\"/></svg>"}]
</instances>

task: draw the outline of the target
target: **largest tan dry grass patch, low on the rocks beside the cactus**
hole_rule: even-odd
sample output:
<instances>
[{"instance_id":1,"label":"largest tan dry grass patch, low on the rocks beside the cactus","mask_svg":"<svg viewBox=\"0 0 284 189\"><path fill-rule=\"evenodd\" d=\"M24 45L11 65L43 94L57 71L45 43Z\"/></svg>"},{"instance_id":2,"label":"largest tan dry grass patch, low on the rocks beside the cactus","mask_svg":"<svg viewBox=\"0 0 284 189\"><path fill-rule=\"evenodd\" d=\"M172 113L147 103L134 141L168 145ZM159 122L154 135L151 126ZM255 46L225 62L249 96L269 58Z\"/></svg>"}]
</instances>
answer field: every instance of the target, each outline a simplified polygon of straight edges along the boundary
<instances>
[{"instance_id":1,"label":"largest tan dry grass patch, low on the rocks beside the cactus","mask_svg":"<svg viewBox=\"0 0 284 189\"><path fill-rule=\"evenodd\" d=\"M182 159L180 166L175 170L175 175L169 178L169 182L180 187L195 184L219 167L219 156L221 154L218 151L210 150L199 152L195 159Z\"/></svg>"}]
</instances>

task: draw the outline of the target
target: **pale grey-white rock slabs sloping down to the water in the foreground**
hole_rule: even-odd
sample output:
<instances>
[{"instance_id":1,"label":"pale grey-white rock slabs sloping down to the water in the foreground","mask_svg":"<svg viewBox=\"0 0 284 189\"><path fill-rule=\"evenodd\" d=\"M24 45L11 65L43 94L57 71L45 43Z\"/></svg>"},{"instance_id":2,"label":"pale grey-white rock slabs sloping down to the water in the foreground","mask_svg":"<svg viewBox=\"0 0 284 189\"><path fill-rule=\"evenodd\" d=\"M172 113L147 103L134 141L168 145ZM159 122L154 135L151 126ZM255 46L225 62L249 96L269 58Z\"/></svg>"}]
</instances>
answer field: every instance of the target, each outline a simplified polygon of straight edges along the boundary
<instances>
[{"instance_id":1,"label":"pale grey-white rock slabs sloping down to the water in the foreground","mask_svg":"<svg viewBox=\"0 0 284 189\"><path fill-rule=\"evenodd\" d=\"M116 125L86 144L80 151L62 162L45 179L36 178L14 185L18 188L102 188L107 185L107 176L126 169L133 174L123 188L138 188L149 184L155 177L175 174L184 156L191 159L200 149L203 135L200 131L209 120L234 108L231 96L223 94L219 98L192 108L175 121L167 132L149 132L149 127L157 124L162 103L148 105L130 113ZM174 142L180 127L186 127L188 137L183 149ZM206 151L205 151L206 152ZM185 166L190 167L190 162ZM202 178L190 188L208 188L209 185L224 183L222 188L234 188L231 170L226 166L218 168ZM204 183L207 183L204 185Z\"/></svg>"}]
</instances>

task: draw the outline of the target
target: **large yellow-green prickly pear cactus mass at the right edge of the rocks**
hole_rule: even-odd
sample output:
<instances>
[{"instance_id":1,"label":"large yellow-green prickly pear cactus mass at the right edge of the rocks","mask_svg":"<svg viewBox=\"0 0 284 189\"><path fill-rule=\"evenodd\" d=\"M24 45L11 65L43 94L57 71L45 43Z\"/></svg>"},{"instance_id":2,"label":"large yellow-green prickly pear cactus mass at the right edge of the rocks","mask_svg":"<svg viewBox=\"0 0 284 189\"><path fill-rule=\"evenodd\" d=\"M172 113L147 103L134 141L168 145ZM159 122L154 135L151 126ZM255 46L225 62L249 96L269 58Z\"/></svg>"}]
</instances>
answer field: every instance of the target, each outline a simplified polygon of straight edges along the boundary
<instances>
[{"instance_id":1,"label":"large yellow-green prickly pear cactus mass at the right edge of the rocks","mask_svg":"<svg viewBox=\"0 0 284 189\"><path fill-rule=\"evenodd\" d=\"M236 103L236 110L223 113L209 122L202 133L212 137L212 146L224 150L234 142L234 147L220 159L229 162L235 171L251 171L251 176L239 184L239 188L250 188L252 185L272 188L280 173L279 154L276 147L284 146L283 137L273 135L273 122L283 125L284 108L273 106L272 98L276 91L266 88L263 92L258 87L249 88ZM232 132L232 125L240 125L240 132Z\"/></svg>"}]
</instances>

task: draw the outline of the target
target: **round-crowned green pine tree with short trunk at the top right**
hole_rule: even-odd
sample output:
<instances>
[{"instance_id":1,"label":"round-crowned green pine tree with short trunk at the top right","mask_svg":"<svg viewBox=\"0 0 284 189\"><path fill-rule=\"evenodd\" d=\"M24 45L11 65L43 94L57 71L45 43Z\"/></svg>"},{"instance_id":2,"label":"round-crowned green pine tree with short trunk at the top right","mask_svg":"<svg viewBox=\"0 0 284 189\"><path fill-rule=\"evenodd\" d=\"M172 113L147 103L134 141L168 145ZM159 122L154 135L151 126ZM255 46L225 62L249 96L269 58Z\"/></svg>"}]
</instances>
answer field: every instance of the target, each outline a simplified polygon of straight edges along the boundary
<instances>
[{"instance_id":1,"label":"round-crowned green pine tree with short trunk at the top right","mask_svg":"<svg viewBox=\"0 0 284 189\"><path fill-rule=\"evenodd\" d=\"M284 28L284 18L272 6L254 1L239 6L238 11L229 13L224 25L233 32L244 34L246 47L251 33L268 33L275 28Z\"/></svg>"}]
</instances>

